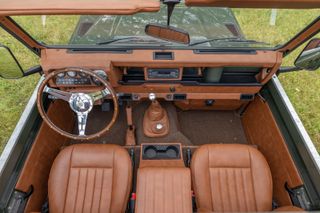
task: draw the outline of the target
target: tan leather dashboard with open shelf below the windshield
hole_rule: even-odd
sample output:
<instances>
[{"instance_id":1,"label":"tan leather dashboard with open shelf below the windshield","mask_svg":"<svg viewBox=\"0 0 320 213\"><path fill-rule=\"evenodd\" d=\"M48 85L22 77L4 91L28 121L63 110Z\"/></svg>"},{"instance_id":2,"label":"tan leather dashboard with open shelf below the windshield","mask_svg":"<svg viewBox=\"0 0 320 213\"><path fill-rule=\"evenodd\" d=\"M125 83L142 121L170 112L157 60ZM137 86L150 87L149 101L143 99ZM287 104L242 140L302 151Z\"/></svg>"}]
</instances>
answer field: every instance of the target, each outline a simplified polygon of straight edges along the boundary
<instances>
[{"instance_id":1,"label":"tan leather dashboard with open shelf below the windshield","mask_svg":"<svg viewBox=\"0 0 320 213\"><path fill-rule=\"evenodd\" d=\"M159 50L157 50L159 52ZM161 50L160 50L161 51ZM104 70L117 93L131 94L134 100L146 98L149 93L157 93L158 97L175 100L177 94L183 99L224 99L239 100L243 94L256 94L262 85L268 82L278 70L282 54L275 51L256 51L245 53L198 53L193 50L173 50L171 60L156 60L155 50L133 50L129 52L71 52L67 50L45 49L41 52L41 64L45 73L65 67L84 67L92 70ZM162 51L162 52L168 52ZM229 71L225 84L187 84L182 83L185 69L195 70L196 77L207 67L257 67L254 84L228 84L237 80L237 71ZM141 82L133 84L121 83L130 68L141 68ZM147 71L153 68L175 70L177 79L149 79ZM170 73L170 72L168 72ZM230 73L235 77L230 77ZM156 72L157 74L157 72ZM230 80L231 79L231 80ZM175 81L172 81L175 80ZM56 86L56 85L53 85ZM67 85L71 89L81 88L79 85ZM94 88L94 87L93 87ZM91 87L92 89L92 87ZM177 97L178 98L178 97ZM179 97L181 98L181 96Z\"/></svg>"}]
</instances>

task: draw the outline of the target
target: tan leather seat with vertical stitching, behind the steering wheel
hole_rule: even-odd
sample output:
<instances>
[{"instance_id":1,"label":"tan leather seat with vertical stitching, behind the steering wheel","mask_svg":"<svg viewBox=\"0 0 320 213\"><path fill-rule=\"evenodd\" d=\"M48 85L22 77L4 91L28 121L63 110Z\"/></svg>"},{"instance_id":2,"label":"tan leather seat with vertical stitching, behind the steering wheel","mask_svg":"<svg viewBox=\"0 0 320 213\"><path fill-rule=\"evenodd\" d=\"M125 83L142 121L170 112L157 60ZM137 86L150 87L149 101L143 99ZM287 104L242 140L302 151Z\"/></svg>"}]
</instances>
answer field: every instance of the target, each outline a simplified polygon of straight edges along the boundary
<instances>
[{"instance_id":1,"label":"tan leather seat with vertical stitching, behind the steering wheel","mask_svg":"<svg viewBox=\"0 0 320 213\"><path fill-rule=\"evenodd\" d=\"M117 145L78 144L63 149L49 177L49 210L55 212L125 212L132 164Z\"/></svg>"}]
</instances>

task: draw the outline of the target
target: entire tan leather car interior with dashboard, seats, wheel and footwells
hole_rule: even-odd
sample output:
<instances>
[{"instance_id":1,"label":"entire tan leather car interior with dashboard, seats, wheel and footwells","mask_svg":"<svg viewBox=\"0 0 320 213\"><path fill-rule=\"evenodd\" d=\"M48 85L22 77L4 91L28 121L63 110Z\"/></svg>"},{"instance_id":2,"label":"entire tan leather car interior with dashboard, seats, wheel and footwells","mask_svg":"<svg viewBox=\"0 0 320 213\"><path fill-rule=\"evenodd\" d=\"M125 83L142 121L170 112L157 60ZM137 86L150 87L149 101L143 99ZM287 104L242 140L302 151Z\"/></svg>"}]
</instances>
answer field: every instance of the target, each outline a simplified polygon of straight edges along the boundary
<instances>
[{"instance_id":1,"label":"entire tan leather car interior with dashboard, seats, wheel and footwells","mask_svg":"<svg viewBox=\"0 0 320 213\"><path fill-rule=\"evenodd\" d=\"M16 184L33 186L25 211L302 210L289 190L303 180L259 93L281 54L42 55L44 122Z\"/></svg>"}]
</instances>

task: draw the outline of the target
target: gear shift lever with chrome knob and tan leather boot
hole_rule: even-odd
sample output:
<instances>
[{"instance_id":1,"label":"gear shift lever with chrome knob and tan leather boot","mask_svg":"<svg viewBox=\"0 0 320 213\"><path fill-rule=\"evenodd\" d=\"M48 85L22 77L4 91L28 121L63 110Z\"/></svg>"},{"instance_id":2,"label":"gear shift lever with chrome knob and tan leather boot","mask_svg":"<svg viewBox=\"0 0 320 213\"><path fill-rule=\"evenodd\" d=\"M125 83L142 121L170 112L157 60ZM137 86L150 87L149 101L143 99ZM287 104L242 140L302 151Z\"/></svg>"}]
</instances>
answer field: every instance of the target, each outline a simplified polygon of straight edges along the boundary
<instances>
[{"instance_id":1,"label":"gear shift lever with chrome knob and tan leather boot","mask_svg":"<svg viewBox=\"0 0 320 213\"><path fill-rule=\"evenodd\" d=\"M163 137L169 132L169 119L165 109L156 100L156 94L150 93L151 104L143 119L143 132L148 137Z\"/></svg>"}]
</instances>

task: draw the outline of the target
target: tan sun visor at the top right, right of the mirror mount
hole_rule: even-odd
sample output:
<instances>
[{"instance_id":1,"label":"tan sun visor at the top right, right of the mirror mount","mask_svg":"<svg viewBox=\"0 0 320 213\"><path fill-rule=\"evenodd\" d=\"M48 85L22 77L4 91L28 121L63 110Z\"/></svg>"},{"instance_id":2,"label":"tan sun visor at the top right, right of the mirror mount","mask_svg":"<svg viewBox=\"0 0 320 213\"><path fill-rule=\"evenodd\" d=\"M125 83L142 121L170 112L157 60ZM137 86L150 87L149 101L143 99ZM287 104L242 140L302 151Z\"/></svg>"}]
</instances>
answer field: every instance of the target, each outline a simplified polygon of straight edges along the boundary
<instances>
[{"instance_id":1,"label":"tan sun visor at the top right, right of the mirror mount","mask_svg":"<svg viewBox=\"0 0 320 213\"><path fill-rule=\"evenodd\" d=\"M187 6L231 8L320 8L320 0L185 0Z\"/></svg>"}]
</instances>

